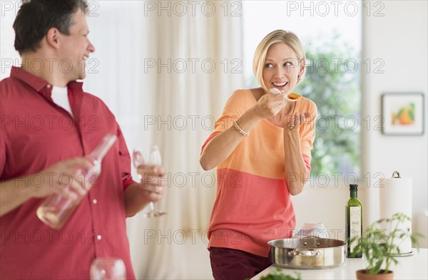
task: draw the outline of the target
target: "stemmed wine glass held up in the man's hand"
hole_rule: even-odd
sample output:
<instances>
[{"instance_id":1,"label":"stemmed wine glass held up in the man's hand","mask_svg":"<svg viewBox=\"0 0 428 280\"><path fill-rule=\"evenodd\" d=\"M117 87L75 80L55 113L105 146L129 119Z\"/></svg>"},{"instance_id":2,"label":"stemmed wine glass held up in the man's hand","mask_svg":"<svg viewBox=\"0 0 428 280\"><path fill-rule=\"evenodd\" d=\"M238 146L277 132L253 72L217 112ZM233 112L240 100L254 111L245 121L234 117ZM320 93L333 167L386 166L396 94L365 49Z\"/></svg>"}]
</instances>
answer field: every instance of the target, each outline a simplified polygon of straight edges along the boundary
<instances>
[{"instance_id":1,"label":"stemmed wine glass held up in the man's hand","mask_svg":"<svg viewBox=\"0 0 428 280\"><path fill-rule=\"evenodd\" d=\"M159 151L159 147L157 145L153 145L148 149L134 149L133 150L133 165L136 167L138 177L143 179L144 173L151 170L152 167L156 165L162 165L161 152ZM147 179L147 178L145 178ZM163 210L156 210L155 203L150 202L150 211L144 213L144 217L159 217L166 214Z\"/></svg>"}]
</instances>

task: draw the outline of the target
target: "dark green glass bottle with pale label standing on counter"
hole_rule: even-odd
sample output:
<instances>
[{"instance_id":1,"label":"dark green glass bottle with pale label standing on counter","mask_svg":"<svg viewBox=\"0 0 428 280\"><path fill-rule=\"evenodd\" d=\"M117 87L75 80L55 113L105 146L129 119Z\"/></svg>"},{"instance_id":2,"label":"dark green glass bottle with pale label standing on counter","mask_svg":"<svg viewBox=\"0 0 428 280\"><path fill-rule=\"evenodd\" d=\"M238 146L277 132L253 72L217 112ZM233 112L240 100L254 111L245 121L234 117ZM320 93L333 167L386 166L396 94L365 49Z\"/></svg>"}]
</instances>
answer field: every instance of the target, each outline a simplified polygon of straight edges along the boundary
<instances>
[{"instance_id":1,"label":"dark green glass bottle with pale label standing on counter","mask_svg":"<svg viewBox=\"0 0 428 280\"><path fill-rule=\"evenodd\" d=\"M361 258L361 249L356 251L358 239L362 237L362 204L357 198L358 185L350 185L350 200L345 209L347 257Z\"/></svg>"}]
</instances>

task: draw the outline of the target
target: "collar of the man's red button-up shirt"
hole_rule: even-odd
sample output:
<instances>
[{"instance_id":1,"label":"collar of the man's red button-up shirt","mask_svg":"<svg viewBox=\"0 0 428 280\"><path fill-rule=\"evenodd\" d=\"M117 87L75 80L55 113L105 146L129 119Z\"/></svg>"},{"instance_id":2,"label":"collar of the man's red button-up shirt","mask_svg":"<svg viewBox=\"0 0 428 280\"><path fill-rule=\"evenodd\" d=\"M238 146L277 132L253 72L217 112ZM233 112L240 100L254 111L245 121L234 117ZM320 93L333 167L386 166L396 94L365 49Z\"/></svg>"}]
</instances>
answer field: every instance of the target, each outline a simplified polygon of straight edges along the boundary
<instances>
[{"instance_id":1,"label":"collar of the man's red button-up shirt","mask_svg":"<svg viewBox=\"0 0 428 280\"><path fill-rule=\"evenodd\" d=\"M26 83L38 93L44 95L46 98L51 98L52 85L44 79L15 66L12 66L11 68L11 77ZM83 83L71 81L67 84L67 88L83 91Z\"/></svg>"}]
</instances>

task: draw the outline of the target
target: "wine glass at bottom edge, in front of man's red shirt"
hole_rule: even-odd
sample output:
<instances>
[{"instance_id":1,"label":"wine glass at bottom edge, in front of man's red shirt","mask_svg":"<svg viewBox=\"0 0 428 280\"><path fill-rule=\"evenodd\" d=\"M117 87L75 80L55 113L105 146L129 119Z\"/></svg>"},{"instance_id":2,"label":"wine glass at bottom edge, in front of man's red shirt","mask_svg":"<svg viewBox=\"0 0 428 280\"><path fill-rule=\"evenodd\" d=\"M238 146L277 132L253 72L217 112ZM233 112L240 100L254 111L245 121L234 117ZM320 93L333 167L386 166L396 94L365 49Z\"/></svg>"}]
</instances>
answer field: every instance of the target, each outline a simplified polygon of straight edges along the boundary
<instances>
[{"instance_id":1,"label":"wine glass at bottom edge, in front of man's red shirt","mask_svg":"<svg viewBox=\"0 0 428 280\"><path fill-rule=\"evenodd\" d=\"M91 265L91 280L125 280L126 268L118 258L96 258Z\"/></svg>"}]
</instances>

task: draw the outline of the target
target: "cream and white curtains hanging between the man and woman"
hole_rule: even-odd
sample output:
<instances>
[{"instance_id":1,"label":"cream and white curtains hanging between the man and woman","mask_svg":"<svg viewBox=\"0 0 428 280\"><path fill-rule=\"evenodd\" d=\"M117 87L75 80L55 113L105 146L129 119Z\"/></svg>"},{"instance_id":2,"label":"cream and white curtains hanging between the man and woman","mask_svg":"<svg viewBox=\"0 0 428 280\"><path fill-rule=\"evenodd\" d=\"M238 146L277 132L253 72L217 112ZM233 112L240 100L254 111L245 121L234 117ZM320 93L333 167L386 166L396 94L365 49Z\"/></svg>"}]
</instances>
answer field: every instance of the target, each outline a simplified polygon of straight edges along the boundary
<instances>
[{"instance_id":1,"label":"cream and white curtains hanging between the man and woman","mask_svg":"<svg viewBox=\"0 0 428 280\"><path fill-rule=\"evenodd\" d=\"M156 204L168 214L128 219L137 279L205 277L195 269L209 269L215 177L200 168L200 147L230 93L244 86L240 2L98 1L90 8L96 52L86 90L108 103L130 150L157 144L168 170L168 190Z\"/></svg>"}]
</instances>

